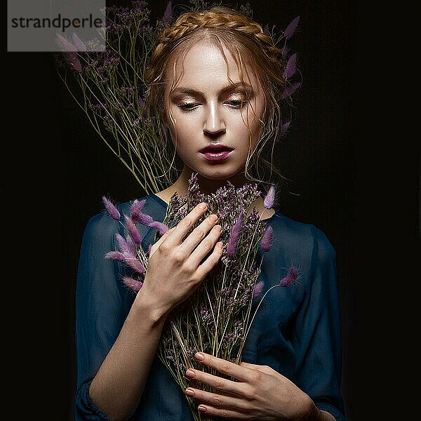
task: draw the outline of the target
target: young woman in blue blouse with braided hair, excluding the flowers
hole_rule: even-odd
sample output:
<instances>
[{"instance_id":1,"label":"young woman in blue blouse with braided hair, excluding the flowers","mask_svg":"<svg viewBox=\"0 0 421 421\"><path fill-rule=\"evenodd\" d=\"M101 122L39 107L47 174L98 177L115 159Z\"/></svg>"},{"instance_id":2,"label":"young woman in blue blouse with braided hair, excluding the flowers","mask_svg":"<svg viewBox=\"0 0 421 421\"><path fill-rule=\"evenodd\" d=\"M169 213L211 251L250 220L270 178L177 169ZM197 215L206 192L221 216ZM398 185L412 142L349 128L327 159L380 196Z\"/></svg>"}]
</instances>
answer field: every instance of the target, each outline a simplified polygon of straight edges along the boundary
<instances>
[{"instance_id":1,"label":"young woman in blue blouse with braided hair, excluding the flowers","mask_svg":"<svg viewBox=\"0 0 421 421\"><path fill-rule=\"evenodd\" d=\"M148 74L148 105L161 116L184 163L173 185L141 198L143 211L162 221L171 195L187 192L194 172L208 194L227 180L238 187L255 180L255 152L262 142L275 141L286 81L271 37L228 8L184 13L159 41ZM253 206L276 238L260 274L267 288L291 260L302 278L295 288L275 288L262 302L243 349L246 362L196 354L203 365L236 379L186 373L218 389L215 394L191 388L183 393L156 349L168 313L220 260L217 216L187 235L206 211L203 203L163 234L150 250L145 283L135 296L123 286L119 266L104 258L114 248L118 222L105 213L88 221L76 293L76 420L192 420L184 394L206 416L222 419L345 420L335 251L319 229L277 207L265 208L262 197ZM139 229L146 248L155 230Z\"/></svg>"}]
</instances>

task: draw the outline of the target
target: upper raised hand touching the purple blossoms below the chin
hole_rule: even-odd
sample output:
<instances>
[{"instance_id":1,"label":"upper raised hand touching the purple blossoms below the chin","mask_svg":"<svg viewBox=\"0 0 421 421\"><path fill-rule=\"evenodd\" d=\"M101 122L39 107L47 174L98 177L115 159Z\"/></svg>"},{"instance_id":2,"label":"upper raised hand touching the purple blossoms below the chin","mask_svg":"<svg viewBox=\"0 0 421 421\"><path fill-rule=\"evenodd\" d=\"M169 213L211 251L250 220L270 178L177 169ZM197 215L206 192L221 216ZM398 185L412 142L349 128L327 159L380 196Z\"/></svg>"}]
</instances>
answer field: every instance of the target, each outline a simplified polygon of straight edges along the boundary
<instances>
[{"instance_id":1,"label":"upper raised hand touching the purple blossoms below the chin","mask_svg":"<svg viewBox=\"0 0 421 421\"><path fill-rule=\"evenodd\" d=\"M168 314L189 297L222 256L222 243L215 246L222 230L220 225L215 225L216 215L209 215L185 238L206 212L206 207L199 206L176 227L168 229L149 252L145 281L136 298L142 300L147 296L162 314ZM203 260L212 249L208 258Z\"/></svg>"}]
</instances>

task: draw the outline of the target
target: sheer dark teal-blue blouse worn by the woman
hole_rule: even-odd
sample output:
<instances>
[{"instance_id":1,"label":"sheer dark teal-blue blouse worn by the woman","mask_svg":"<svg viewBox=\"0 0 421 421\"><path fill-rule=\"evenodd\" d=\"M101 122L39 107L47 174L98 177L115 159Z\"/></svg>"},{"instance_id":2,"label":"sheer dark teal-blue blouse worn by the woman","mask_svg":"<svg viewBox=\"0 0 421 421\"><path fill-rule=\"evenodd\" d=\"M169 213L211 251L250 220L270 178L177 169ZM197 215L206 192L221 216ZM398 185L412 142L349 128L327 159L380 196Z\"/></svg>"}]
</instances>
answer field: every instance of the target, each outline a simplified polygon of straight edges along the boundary
<instances>
[{"instance_id":1,"label":"sheer dark teal-blue blouse worn by the woman","mask_svg":"<svg viewBox=\"0 0 421 421\"><path fill-rule=\"evenodd\" d=\"M162 222L166 202L155 194L142 199L147 199L142 211ZM129 206L126 202L117 207L128 214ZM263 256L259 281L265 287L260 298L279 283L290 265L298 268L299 277L293 285L273 288L266 295L250 327L242 360L272 367L309 394L320 409L345 421L335 250L320 229L291 220L278 208L265 222L272 225L274 241ZM116 250L115 233L121 228L103 211L88 220L83 233L76 286L76 421L110 420L91 401L88 390L134 300L121 281L121 264L104 258ZM138 229L147 250L156 229L144 225ZM258 253L261 258L264 252ZM184 392L158 356L130 420L192 421Z\"/></svg>"}]
</instances>

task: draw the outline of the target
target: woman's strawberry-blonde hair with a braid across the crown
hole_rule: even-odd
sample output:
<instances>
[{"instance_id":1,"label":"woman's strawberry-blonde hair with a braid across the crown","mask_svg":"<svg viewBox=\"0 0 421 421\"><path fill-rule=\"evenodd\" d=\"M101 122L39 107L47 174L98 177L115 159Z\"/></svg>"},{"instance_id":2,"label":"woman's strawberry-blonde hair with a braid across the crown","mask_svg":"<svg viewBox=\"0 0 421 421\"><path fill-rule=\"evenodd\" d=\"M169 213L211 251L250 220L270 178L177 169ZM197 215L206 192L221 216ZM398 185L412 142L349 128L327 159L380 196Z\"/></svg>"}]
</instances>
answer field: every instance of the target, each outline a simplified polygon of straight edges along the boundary
<instances>
[{"instance_id":1,"label":"woman's strawberry-blonde hair with a braid across the crown","mask_svg":"<svg viewBox=\"0 0 421 421\"><path fill-rule=\"evenodd\" d=\"M260 120L260 135L254 150L252 150L251 132L249 136L246 177L249 180L267 182L254 177L259 175L259 163L262 163L270 169L270 176L274 171L283 178L273 164L263 159L260 153L268 140L272 141L273 151L274 144L279 138L279 128L282 123L281 94L286 88L284 76L286 62L272 36L265 33L257 22L239 11L225 6L215 6L205 11L182 13L173 25L159 34L156 49L145 75L148 85L146 103L149 112L163 119L166 88L164 79L168 62L173 57L180 57L190 46L203 39L212 41L220 48L222 54L222 48L225 47L239 67L241 77L247 72L244 62L246 58L246 62L258 78L265 97L265 109ZM251 173L248 170L249 166Z\"/></svg>"}]
</instances>

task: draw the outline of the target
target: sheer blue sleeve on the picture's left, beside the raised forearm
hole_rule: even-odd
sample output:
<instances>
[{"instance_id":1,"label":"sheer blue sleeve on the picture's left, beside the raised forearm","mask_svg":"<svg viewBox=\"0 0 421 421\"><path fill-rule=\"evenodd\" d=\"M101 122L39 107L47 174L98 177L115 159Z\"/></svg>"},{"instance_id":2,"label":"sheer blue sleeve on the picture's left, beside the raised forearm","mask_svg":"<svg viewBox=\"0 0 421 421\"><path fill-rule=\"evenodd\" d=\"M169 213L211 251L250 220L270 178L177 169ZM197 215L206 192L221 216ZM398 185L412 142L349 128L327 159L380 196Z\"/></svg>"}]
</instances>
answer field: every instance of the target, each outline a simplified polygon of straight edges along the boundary
<instances>
[{"instance_id":1,"label":"sheer blue sleeve on the picture's left, beside the raised forearm","mask_svg":"<svg viewBox=\"0 0 421 421\"><path fill-rule=\"evenodd\" d=\"M120 265L105 259L115 250L119 222L106 213L91 218L83 232L76 283L76 421L110 421L91 401L89 385L114 344L133 302L119 276Z\"/></svg>"}]
</instances>

